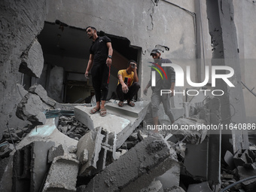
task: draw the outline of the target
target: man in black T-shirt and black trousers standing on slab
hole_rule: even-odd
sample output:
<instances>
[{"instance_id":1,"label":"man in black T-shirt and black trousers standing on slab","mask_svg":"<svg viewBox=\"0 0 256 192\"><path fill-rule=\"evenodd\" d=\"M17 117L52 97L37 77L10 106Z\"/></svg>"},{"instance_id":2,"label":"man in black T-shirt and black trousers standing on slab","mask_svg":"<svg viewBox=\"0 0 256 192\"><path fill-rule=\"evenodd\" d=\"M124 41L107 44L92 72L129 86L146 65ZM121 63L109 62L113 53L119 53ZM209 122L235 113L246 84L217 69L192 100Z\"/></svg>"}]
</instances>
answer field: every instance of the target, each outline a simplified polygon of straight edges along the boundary
<instances>
[{"instance_id":1,"label":"man in black T-shirt and black trousers standing on slab","mask_svg":"<svg viewBox=\"0 0 256 192\"><path fill-rule=\"evenodd\" d=\"M105 35L99 37L93 26L88 26L86 31L88 37L93 39L93 44L90 47L90 58L85 77L88 77L90 69L93 67L91 74L96 96L96 107L90 110L90 114L100 111L100 116L104 117L107 114L105 101L108 96L110 66L113 54L111 39Z\"/></svg>"}]
</instances>

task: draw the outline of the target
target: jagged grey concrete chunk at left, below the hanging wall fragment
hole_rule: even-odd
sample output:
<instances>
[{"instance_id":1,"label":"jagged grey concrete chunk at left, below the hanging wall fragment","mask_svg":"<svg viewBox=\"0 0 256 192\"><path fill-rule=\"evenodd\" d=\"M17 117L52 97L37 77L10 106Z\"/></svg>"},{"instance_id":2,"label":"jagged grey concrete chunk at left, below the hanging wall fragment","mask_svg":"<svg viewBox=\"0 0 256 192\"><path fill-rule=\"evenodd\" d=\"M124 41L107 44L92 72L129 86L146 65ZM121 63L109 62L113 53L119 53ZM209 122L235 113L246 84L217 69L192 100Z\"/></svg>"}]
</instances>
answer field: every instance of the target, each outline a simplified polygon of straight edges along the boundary
<instances>
[{"instance_id":1,"label":"jagged grey concrete chunk at left, below the hanging wall fragment","mask_svg":"<svg viewBox=\"0 0 256 192\"><path fill-rule=\"evenodd\" d=\"M22 120L29 120L35 125L44 124L46 117L44 115L44 106L40 97L27 93L17 106L16 115Z\"/></svg>"}]
</instances>

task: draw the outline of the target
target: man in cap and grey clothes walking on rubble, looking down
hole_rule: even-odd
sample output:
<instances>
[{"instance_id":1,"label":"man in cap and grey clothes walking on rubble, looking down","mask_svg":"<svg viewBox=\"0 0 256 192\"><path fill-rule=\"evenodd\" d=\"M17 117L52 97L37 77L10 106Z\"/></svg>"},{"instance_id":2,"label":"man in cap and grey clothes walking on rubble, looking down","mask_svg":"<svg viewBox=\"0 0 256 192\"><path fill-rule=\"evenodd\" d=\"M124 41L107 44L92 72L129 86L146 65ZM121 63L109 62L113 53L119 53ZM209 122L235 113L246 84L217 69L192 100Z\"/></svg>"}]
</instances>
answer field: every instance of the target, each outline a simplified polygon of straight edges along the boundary
<instances>
[{"instance_id":1,"label":"man in cap and grey clothes walking on rubble, looking down","mask_svg":"<svg viewBox=\"0 0 256 192\"><path fill-rule=\"evenodd\" d=\"M152 96L151 96L151 106L152 106L152 114L153 114L153 121L154 121L154 127L155 131L157 130L157 124L158 124L158 115L157 112L159 110L159 105L162 102L163 108L166 113L166 115L169 117L169 120L171 120L172 123L174 123L174 117L171 110L170 105L170 96L173 96L173 91L175 87L175 71L172 67L162 67L162 63L171 63L169 59L162 59L160 58L161 53L159 50L154 49L151 51L151 56L154 59L154 68L163 68L163 71L166 72L167 78L161 78L160 74L156 72L156 86L151 87L151 80L148 81L148 85L145 87L145 90L143 90L143 93L147 95L148 88L151 87L152 89ZM154 68L151 68L152 71L155 71ZM160 90L171 90L171 94L163 94L160 95Z\"/></svg>"}]
</instances>

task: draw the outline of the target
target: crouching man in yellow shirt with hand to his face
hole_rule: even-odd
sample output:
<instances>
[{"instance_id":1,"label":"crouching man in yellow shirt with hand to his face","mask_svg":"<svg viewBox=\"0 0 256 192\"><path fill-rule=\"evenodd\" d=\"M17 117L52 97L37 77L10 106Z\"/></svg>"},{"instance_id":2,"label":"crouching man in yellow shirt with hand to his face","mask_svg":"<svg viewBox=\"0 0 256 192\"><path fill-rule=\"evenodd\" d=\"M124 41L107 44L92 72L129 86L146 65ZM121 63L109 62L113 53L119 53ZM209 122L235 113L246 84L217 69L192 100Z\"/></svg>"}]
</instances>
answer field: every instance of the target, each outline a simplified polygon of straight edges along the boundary
<instances>
[{"instance_id":1,"label":"crouching man in yellow shirt with hand to his face","mask_svg":"<svg viewBox=\"0 0 256 192\"><path fill-rule=\"evenodd\" d=\"M117 78L119 80L117 84L117 96L120 100L118 106L123 107L123 100L127 99L127 104L134 107L135 104L132 102L132 99L140 88L136 61L130 60L127 69L119 70Z\"/></svg>"}]
</instances>

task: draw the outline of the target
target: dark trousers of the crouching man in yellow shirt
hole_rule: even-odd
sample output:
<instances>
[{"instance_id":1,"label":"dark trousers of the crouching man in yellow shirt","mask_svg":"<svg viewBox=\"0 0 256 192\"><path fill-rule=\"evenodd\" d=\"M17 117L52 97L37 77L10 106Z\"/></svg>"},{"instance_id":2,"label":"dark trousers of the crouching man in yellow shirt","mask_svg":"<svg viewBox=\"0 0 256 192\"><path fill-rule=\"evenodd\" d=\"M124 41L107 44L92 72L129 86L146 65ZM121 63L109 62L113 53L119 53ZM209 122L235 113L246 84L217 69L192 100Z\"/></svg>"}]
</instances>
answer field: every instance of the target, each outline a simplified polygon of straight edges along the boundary
<instances>
[{"instance_id":1,"label":"dark trousers of the crouching man in yellow shirt","mask_svg":"<svg viewBox=\"0 0 256 192\"><path fill-rule=\"evenodd\" d=\"M117 97L118 99L123 102L124 99L132 100L133 96L138 93L138 90L141 86L137 82L133 82L133 84L129 87L128 93L123 93L122 85L117 85Z\"/></svg>"}]
</instances>

